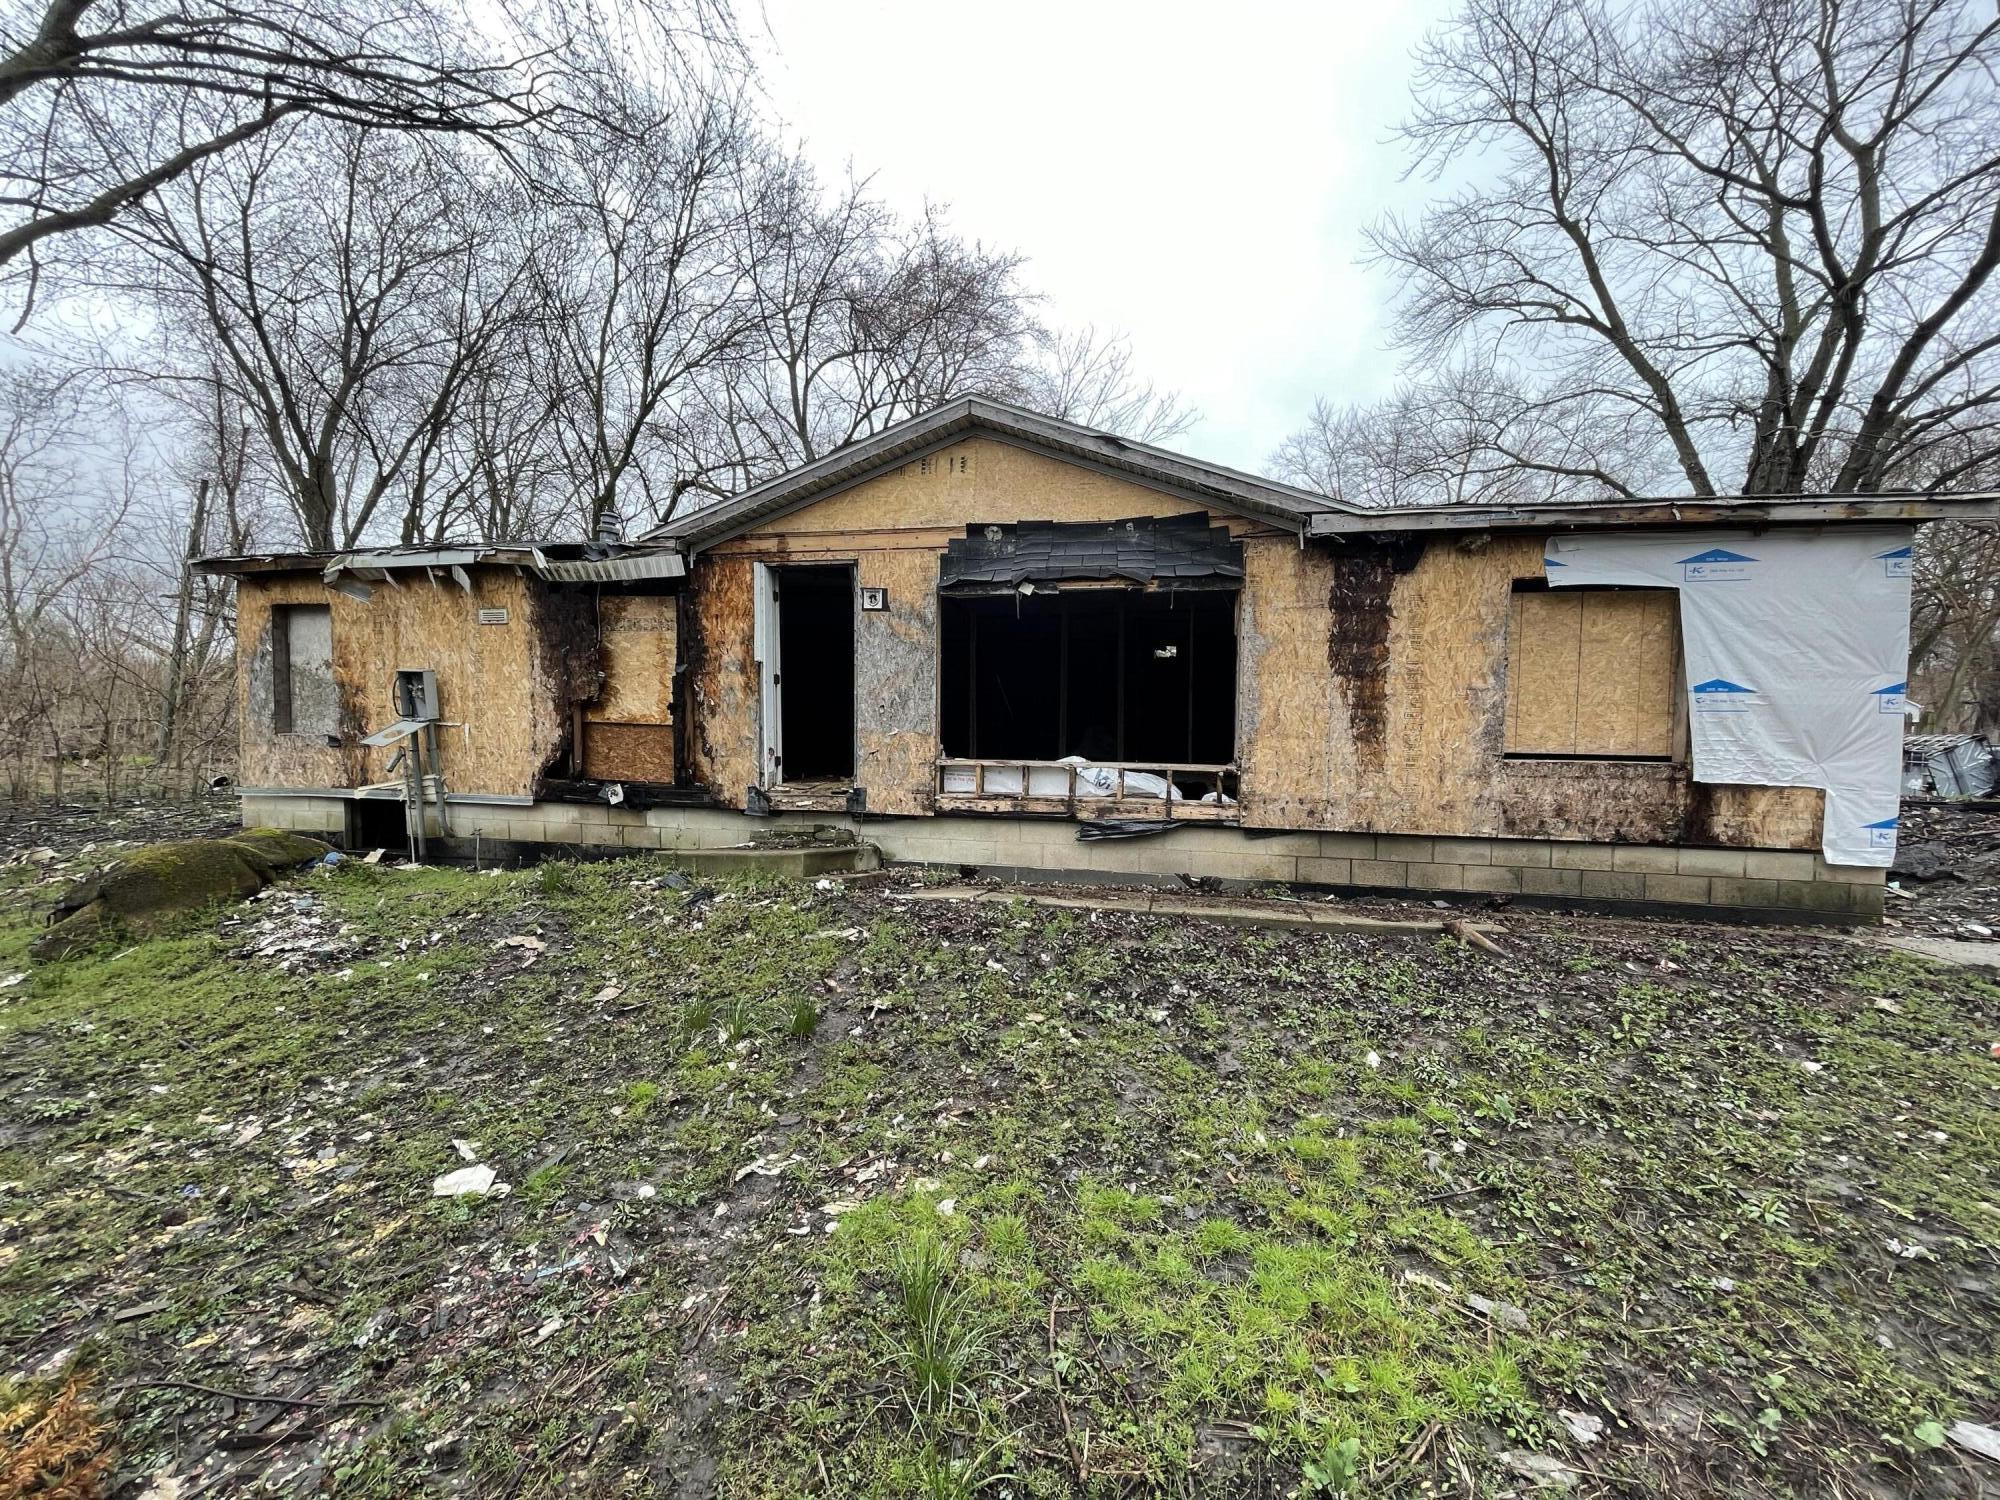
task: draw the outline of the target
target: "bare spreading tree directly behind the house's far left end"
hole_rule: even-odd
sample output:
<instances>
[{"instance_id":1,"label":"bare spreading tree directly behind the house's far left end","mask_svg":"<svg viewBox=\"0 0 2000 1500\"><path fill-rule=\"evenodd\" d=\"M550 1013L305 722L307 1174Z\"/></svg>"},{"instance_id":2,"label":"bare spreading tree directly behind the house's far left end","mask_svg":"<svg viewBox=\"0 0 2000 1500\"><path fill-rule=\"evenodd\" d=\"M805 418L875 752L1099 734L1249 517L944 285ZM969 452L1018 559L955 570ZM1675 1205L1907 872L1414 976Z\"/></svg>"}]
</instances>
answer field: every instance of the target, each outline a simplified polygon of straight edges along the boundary
<instances>
[{"instance_id":1,"label":"bare spreading tree directly behind the house's far left end","mask_svg":"<svg viewBox=\"0 0 2000 1500\"><path fill-rule=\"evenodd\" d=\"M402 540L450 512L450 428L526 268L490 190L458 154L298 124L132 218L144 290L196 352L174 378L252 414L308 546L358 542L384 506Z\"/></svg>"}]
</instances>

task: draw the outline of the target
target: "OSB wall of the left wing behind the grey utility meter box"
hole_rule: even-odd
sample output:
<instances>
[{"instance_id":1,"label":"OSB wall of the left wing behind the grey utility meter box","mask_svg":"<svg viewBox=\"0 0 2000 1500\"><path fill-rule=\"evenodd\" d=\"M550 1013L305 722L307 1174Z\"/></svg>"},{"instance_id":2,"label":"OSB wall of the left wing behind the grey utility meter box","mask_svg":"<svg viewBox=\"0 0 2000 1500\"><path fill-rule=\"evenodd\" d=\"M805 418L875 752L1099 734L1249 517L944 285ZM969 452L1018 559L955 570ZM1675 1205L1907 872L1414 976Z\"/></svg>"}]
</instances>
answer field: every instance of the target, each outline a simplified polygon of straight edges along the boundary
<instances>
[{"instance_id":1,"label":"OSB wall of the left wing behind the grey utility meter box","mask_svg":"<svg viewBox=\"0 0 2000 1500\"><path fill-rule=\"evenodd\" d=\"M398 668L438 674L438 752L450 792L528 796L562 750L568 688L556 682L542 632L546 600L506 568L472 570L468 594L452 580L422 576L400 586L372 584L358 600L326 588L316 574L244 578L236 592L236 696L244 786L366 786L390 780L394 746L370 750L360 738L396 714L390 684ZM274 604L328 604L334 622L334 680L340 686L340 746L324 736L270 728L270 610ZM480 610L506 610L506 624L480 624ZM400 772L398 772L400 774Z\"/></svg>"}]
</instances>

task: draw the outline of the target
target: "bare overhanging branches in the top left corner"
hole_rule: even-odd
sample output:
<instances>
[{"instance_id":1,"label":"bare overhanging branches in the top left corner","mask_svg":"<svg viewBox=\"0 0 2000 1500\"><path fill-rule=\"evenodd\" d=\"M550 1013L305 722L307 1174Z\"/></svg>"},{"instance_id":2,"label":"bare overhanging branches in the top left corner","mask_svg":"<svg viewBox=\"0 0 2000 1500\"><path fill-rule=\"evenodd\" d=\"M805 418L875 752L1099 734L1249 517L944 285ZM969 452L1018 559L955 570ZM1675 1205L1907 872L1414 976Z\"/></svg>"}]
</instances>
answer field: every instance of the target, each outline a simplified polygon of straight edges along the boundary
<instances>
[{"instance_id":1,"label":"bare overhanging branches in the top left corner","mask_svg":"<svg viewBox=\"0 0 2000 1500\"><path fill-rule=\"evenodd\" d=\"M736 54L720 2L638 10L670 46ZM488 142L588 118L606 26L586 0L4 0L0 266L300 116Z\"/></svg>"}]
</instances>

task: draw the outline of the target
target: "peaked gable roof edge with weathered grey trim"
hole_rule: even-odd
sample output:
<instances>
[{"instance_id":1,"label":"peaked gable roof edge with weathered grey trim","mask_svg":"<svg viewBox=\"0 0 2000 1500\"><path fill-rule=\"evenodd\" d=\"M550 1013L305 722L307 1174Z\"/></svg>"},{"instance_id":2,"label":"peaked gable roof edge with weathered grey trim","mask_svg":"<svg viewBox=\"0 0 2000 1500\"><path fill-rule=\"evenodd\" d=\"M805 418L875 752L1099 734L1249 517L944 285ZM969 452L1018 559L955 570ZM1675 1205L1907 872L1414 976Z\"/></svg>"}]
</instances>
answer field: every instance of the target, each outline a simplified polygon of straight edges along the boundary
<instances>
[{"instance_id":1,"label":"peaked gable roof edge with weathered grey trim","mask_svg":"<svg viewBox=\"0 0 2000 1500\"><path fill-rule=\"evenodd\" d=\"M676 516L648 532L646 540L674 542L684 552L698 552L968 436L1010 442L1184 500L1276 522L1300 534L1310 516L1354 514L1352 506L1278 480L1118 438L1060 416L1042 416L984 396L960 396L868 438L856 438L730 500Z\"/></svg>"}]
</instances>

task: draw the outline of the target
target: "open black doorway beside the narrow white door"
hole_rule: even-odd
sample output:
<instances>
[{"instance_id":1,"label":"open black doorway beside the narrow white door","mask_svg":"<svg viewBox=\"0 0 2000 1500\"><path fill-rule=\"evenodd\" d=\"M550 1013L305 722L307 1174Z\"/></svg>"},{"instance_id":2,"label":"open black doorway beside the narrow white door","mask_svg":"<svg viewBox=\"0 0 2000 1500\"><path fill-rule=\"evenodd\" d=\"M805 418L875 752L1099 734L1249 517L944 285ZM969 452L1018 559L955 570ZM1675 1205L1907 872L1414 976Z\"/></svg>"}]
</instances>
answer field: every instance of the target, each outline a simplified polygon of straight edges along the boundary
<instances>
[{"instance_id":1,"label":"open black doorway beside the narrow white door","mask_svg":"<svg viewBox=\"0 0 2000 1500\"><path fill-rule=\"evenodd\" d=\"M854 778L854 570L778 568L782 778Z\"/></svg>"}]
</instances>

